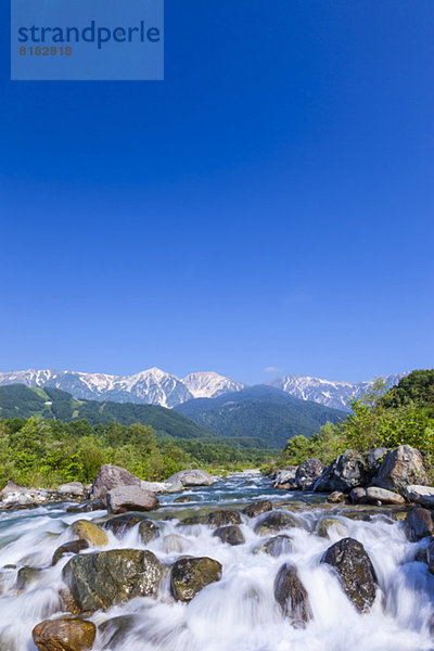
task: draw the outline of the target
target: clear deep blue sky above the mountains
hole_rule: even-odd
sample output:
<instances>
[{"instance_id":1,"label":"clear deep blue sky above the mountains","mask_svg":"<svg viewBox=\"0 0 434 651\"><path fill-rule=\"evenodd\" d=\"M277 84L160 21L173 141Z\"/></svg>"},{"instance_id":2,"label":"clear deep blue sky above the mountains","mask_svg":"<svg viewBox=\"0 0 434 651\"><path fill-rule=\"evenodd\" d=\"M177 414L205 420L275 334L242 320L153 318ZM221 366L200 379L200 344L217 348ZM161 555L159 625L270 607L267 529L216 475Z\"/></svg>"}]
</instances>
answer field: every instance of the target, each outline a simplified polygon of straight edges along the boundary
<instances>
[{"instance_id":1,"label":"clear deep blue sky above the mountains","mask_svg":"<svg viewBox=\"0 0 434 651\"><path fill-rule=\"evenodd\" d=\"M9 81L0 370L434 366L434 2L166 0L163 82Z\"/></svg>"}]
</instances>

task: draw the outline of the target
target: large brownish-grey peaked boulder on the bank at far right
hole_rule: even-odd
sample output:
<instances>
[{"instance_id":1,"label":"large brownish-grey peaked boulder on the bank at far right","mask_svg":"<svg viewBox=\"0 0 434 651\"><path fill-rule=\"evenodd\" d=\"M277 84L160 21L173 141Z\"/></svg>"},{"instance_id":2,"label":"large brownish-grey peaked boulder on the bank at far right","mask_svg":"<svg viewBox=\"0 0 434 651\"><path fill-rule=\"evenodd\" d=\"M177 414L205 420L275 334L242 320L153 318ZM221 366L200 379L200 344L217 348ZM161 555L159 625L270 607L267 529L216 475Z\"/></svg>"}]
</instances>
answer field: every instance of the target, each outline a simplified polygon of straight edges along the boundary
<instances>
[{"instance_id":1,"label":"large brownish-grey peaked boulder on the bank at far right","mask_svg":"<svg viewBox=\"0 0 434 651\"><path fill-rule=\"evenodd\" d=\"M412 484L430 484L421 452L409 445L400 445L387 452L372 483L400 495L405 495L407 486Z\"/></svg>"}]
</instances>

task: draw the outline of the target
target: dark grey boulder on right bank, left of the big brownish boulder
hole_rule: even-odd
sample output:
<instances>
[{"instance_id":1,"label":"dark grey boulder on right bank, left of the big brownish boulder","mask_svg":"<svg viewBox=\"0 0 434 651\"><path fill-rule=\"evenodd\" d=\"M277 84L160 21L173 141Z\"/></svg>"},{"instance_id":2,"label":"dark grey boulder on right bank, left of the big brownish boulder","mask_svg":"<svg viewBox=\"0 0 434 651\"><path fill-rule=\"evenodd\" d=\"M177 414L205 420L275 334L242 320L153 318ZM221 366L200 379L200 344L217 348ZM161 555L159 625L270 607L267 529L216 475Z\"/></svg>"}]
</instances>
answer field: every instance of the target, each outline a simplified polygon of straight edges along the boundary
<instances>
[{"instance_id":1,"label":"dark grey boulder on right bank, left of the big brownish boulder","mask_svg":"<svg viewBox=\"0 0 434 651\"><path fill-rule=\"evenodd\" d=\"M340 490L349 493L352 488L366 484L367 464L360 452L347 449L329 465L314 486L319 493Z\"/></svg>"}]
</instances>

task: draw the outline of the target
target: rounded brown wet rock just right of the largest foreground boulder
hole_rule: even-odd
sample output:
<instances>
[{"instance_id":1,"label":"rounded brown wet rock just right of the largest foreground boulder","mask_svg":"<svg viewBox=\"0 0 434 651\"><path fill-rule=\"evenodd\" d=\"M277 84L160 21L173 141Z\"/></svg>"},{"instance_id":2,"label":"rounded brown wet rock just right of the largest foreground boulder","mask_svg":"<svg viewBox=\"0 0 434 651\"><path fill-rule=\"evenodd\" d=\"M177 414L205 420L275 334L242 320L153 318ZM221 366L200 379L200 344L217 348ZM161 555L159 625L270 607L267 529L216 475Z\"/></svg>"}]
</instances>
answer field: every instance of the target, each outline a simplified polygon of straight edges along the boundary
<instances>
[{"instance_id":1,"label":"rounded brown wet rock just right of the largest foreground boulder","mask_svg":"<svg viewBox=\"0 0 434 651\"><path fill-rule=\"evenodd\" d=\"M221 578L221 565L207 557L178 559L170 571L170 589L178 601L191 601L206 586Z\"/></svg>"}]
</instances>

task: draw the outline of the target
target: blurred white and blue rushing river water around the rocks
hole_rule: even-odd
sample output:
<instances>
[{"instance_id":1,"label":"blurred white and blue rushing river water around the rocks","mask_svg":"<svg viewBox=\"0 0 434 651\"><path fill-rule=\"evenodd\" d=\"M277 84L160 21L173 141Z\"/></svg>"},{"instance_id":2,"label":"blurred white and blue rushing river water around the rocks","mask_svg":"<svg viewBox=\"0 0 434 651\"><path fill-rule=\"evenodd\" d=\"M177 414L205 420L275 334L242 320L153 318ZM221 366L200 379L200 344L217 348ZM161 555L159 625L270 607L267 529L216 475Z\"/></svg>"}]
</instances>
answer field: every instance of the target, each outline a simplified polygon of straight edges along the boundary
<instances>
[{"instance_id":1,"label":"blurred white and blue rushing river water around the rocks","mask_svg":"<svg viewBox=\"0 0 434 651\"><path fill-rule=\"evenodd\" d=\"M165 565L180 556L208 556L222 564L218 583L204 588L188 604L175 602L166 576L158 598L137 598L124 605L99 611L91 617L101 626L124 616L120 634L110 639L113 626L99 629L97 651L427 651L434 650L430 631L434 612L434 576L422 562L414 561L424 542L407 540L404 524L392 518L393 509L367 510L330 507L323 496L273 492L266 478L233 477L190 494L191 503L174 503L175 496L161 498L158 519L162 535L146 548ZM258 499L271 499L275 508L290 508L298 526L289 529L293 546L279 558L258 552L265 539L254 533L256 519L244 515L241 529L245 544L237 547L213 537L206 525L177 527L179 515L200 507L240 508ZM66 513L66 505L39 507L0 514L0 651L35 651L33 627L61 612L58 590L62 567L71 557L51 566L54 550L72 539L68 525L75 520L93 520L105 511ZM370 514L369 514L370 513ZM342 524L317 535L318 522L337 516ZM260 516L259 516L260 518ZM175 534L177 538L167 537ZM369 614L352 605L333 570L320 564L323 552L342 537L363 544L376 572L380 589ZM108 532L108 549L143 549L138 526L124 538ZM105 547L104 549L107 549ZM175 550L174 550L175 549ZM81 553L87 553L90 549ZM94 549L92 549L94 551ZM273 582L284 562L292 562L306 587L312 620L295 628L282 616L273 597ZM17 571L24 565L42 569L25 588L17 590ZM125 617L125 615L129 615Z\"/></svg>"}]
</instances>

